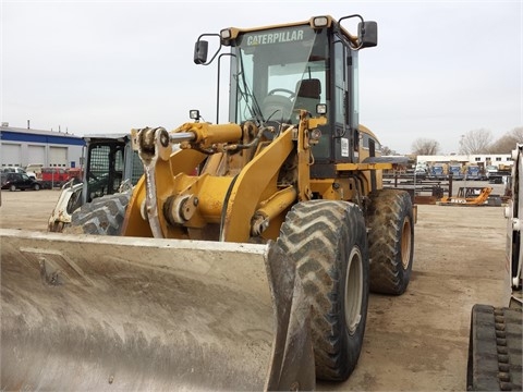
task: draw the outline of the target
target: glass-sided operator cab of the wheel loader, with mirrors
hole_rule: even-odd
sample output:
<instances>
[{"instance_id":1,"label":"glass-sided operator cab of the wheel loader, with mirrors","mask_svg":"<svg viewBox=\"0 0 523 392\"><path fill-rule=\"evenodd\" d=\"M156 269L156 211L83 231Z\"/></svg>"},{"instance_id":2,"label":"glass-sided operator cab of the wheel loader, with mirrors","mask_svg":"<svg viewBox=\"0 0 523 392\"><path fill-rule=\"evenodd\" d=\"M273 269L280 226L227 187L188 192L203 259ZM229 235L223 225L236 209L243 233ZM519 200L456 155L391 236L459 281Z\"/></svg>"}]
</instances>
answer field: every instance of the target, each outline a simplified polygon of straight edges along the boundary
<instances>
[{"instance_id":1,"label":"glass-sided operator cab of the wheel loader, with mirrors","mask_svg":"<svg viewBox=\"0 0 523 392\"><path fill-rule=\"evenodd\" d=\"M351 17L361 20L357 37L340 25ZM207 61L203 42L195 47L199 64ZM276 123L281 131L281 124L297 124L300 110L326 115L311 175L332 176L336 163L360 161L357 54L377 45L375 22L318 16L262 29L228 28L220 42L231 48L230 122Z\"/></svg>"}]
</instances>

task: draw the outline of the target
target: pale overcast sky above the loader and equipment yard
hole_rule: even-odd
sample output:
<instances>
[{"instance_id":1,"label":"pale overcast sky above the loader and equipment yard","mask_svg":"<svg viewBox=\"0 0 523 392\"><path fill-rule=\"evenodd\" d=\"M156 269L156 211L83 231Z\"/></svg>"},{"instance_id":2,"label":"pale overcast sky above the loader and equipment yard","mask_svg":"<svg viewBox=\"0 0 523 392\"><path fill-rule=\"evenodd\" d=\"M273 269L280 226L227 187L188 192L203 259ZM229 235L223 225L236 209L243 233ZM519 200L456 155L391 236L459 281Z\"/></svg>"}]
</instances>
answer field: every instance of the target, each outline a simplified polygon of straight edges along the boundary
<instances>
[{"instance_id":1,"label":"pale overcast sky above the loader and equipment yard","mask_svg":"<svg viewBox=\"0 0 523 392\"><path fill-rule=\"evenodd\" d=\"M523 126L523 0L0 0L0 121L83 136L216 120L216 62L200 34L358 13L378 23L360 53L360 122L410 154L419 138L459 152ZM354 32L355 33L355 32ZM221 117L223 121L227 119Z\"/></svg>"}]
</instances>

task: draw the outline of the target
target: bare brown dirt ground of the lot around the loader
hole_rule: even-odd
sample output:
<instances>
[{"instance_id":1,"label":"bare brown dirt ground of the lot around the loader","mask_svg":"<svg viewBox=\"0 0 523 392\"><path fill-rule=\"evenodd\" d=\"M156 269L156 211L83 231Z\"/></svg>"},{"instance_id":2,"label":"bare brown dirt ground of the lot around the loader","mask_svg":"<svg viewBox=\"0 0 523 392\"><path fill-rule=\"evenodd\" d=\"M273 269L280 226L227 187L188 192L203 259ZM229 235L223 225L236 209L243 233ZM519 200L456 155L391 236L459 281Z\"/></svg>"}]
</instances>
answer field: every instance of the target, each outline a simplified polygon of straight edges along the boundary
<instances>
[{"instance_id":1,"label":"bare brown dirt ground of the lot around the loader","mask_svg":"<svg viewBox=\"0 0 523 392\"><path fill-rule=\"evenodd\" d=\"M0 226L46 231L58 196L59 191L2 192ZM466 390L471 308L507 304L503 207L419 205L417 216L406 293L370 295L354 373L344 383L319 383L318 390Z\"/></svg>"}]
</instances>

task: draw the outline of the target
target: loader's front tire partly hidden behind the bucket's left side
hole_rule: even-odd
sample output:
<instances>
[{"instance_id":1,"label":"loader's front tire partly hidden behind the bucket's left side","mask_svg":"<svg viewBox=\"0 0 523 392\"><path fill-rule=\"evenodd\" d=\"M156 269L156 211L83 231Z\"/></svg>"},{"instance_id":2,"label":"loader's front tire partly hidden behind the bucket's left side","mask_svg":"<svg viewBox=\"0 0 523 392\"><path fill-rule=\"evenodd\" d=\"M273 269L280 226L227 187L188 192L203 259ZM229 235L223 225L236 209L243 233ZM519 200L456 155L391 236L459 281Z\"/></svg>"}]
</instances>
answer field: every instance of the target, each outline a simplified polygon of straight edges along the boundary
<instances>
[{"instance_id":1,"label":"loader's front tire partly hidden behind the bucket's left side","mask_svg":"<svg viewBox=\"0 0 523 392\"><path fill-rule=\"evenodd\" d=\"M107 195L86 203L74 211L63 233L120 235L131 193Z\"/></svg>"}]
</instances>

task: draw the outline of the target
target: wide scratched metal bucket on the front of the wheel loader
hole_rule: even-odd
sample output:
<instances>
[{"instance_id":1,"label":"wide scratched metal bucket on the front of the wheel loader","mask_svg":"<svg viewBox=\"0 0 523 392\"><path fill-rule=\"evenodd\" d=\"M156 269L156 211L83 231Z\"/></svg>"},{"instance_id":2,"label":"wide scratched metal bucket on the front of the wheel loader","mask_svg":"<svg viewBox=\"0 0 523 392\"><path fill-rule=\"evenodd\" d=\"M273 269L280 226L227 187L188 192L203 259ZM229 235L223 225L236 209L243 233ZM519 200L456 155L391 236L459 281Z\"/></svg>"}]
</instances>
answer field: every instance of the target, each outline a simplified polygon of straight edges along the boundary
<instances>
[{"instance_id":1,"label":"wide scratched metal bucket on the front of the wheel loader","mask_svg":"<svg viewBox=\"0 0 523 392\"><path fill-rule=\"evenodd\" d=\"M315 387L308 306L275 243L0 241L0 390Z\"/></svg>"}]
</instances>

